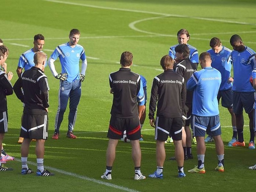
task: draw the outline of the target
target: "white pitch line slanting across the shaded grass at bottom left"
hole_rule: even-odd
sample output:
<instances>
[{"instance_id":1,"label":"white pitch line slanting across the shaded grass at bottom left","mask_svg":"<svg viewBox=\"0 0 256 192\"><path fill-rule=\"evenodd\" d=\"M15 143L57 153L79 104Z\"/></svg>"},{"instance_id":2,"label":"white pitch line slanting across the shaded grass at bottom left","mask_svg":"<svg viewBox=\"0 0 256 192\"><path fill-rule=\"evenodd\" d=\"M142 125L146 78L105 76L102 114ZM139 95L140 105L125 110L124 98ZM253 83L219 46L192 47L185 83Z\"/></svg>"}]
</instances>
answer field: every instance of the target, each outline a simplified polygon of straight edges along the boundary
<instances>
[{"instance_id":1,"label":"white pitch line slanting across the shaded grass at bottom left","mask_svg":"<svg viewBox=\"0 0 256 192\"><path fill-rule=\"evenodd\" d=\"M15 160L21 162L21 159L15 158ZM28 161L28 164L37 166L36 163L31 162L31 161ZM108 187L112 187L112 188L116 188L116 189L120 189L120 190L128 191L128 192L139 192L139 191L134 190L134 189L130 189L130 188L127 188L127 187L115 185L115 184L108 183L108 182L101 181L101 180L97 180L97 179L93 179L93 178L90 178L90 177L87 177L87 176L84 176L84 175L78 175L78 174L73 173L73 172L67 172L67 171L64 171L64 170L61 170L61 169L57 169L57 168L54 168L54 167L49 167L49 166L44 166L44 167L46 169L50 169L50 170L52 170L54 172L58 172L58 173L61 173L61 174L64 174L64 175L69 175L69 176L73 176L73 177L76 177L76 178L79 178L79 179L91 181L93 183L97 183L97 184L100 184L100 185L105 185L105 186L108 186ZM134 182L136 182L136 181L134 181Z\"/></svg>"}]
</instances>

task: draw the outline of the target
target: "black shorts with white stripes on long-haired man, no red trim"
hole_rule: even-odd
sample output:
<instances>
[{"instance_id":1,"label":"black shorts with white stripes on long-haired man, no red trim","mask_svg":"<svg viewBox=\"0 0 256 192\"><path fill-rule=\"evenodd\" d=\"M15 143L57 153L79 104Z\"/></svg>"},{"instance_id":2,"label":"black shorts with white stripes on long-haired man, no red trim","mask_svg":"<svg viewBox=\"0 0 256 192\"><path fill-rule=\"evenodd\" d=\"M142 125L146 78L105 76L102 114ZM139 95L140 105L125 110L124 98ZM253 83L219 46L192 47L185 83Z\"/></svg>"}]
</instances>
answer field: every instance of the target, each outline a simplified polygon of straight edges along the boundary
<instances>
[{"instance_id":1,"label":"black shorts with white stripes on long-haired man, no red trim","mask_svg":"<svg viewBox=\"0 0 256 192\"><path fill-rule=\"evenodd\" d=\"M155 140L166 141L168 135L173 140L181 140L182 117L165 118L156 116Z\"/></svg>"}]
</instances>

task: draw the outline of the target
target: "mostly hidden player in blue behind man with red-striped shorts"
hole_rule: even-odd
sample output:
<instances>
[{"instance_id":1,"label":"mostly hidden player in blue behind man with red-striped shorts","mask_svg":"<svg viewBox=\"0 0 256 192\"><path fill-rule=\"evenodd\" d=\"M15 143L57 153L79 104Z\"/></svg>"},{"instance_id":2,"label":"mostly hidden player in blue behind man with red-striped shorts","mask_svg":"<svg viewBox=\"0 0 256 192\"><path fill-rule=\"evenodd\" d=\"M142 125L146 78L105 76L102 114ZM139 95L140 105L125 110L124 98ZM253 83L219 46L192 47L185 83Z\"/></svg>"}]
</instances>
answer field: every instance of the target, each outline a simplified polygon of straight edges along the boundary
<instances>
[{"instance_id":1,"label":"mostly hidden player in blue behind man with red-striped shorts","mask_svg":"<svg viewBox=\"0 0 256 192\"><path fill-rule=\"evenodd\" d=\"M147 81L146 81L145 77L142 76L142 75L140 75L140 86L143 87L144 96L145 96L145 104L144 104L145 110L143 111L143 113L140 117L140 129L142 129L144 121L146 119L146 104L147 104L147 98L148 98L147 97ZM142 135L141 135L141 138L139 140L143 141ZM121 138L121 141L130 142L130 140L127 139L126 131L124 131L124 136L123 136L123 138Z\"/></svg>"}]
</instances>

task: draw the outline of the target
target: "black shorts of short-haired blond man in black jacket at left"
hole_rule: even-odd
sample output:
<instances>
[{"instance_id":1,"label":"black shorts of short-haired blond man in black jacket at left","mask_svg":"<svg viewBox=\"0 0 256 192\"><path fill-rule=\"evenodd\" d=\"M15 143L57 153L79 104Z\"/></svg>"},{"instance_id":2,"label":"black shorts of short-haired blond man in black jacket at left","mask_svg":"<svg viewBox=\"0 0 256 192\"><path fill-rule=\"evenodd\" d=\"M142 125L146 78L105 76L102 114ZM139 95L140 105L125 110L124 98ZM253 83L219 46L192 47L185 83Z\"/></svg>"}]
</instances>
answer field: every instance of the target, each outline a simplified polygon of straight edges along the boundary
<instances>
[{"instance_id":1,"label":"black shorts of short-haired blond man in black jacket at left","mask_svg":"<svg viewBox=\"0 0 256 192\"><path fill-rule=\"evenodd\" d=\"M20 137L46 140L48 137L48 116L23 113Z\"/></svg>"}]
</instances>

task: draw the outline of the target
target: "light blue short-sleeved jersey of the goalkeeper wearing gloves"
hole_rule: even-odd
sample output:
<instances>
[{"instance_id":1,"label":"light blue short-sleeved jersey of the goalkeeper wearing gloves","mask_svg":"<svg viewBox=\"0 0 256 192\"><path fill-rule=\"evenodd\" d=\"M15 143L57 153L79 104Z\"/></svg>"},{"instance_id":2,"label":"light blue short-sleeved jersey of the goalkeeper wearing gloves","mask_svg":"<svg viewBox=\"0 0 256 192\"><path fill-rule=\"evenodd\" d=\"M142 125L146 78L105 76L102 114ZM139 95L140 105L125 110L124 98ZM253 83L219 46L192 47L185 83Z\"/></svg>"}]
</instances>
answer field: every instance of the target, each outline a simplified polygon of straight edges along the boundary
<instances>
[{"instance_id":1,"label":"light blue short-sleeved jersey of the goalkeeper wearing gloves","mask_svg":"<svg viewBox=\"0 0 256 192\"><path fill-rule=\"evenodd\" d=\"M51 55L52 59L56 60L60 58L61 64L61 73L67 73L68 79L67 82L73 82L76 79L79 79L79 60L85 60L84 47L76 44L72 48L69 43L61 44Z\"/></svg>"}]
</instances>

